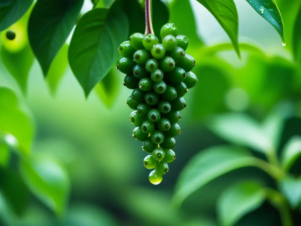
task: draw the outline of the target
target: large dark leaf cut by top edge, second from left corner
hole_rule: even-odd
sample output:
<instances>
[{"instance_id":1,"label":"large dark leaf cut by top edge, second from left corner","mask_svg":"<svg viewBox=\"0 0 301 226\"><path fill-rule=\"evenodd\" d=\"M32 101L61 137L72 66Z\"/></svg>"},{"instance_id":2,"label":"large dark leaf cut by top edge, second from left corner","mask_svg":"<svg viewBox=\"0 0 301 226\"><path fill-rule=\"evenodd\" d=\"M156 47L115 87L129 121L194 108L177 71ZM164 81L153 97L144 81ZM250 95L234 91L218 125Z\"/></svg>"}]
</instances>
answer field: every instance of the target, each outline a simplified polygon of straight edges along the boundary
<instances>
[{"instance_id":1,"label":"large dark leaf cut by top edge, second from left corner","mask_svg":"<svg viewBox=\"0 0 301 226\"><path fill-rule=\"evenodd\" d=\"M39 0L33 8L28 23L29 42L45 77L68 38L83 3L83 0Z\"/></svg>"}]
</instances>

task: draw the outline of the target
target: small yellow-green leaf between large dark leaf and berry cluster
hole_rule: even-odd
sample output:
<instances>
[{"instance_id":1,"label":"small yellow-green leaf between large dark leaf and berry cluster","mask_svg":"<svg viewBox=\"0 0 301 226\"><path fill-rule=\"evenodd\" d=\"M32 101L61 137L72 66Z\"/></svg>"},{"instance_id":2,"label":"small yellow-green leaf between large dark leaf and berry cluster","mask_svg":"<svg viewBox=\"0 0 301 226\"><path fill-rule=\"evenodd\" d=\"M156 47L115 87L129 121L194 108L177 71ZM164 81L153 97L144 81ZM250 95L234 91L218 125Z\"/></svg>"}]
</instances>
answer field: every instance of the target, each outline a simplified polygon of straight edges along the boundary
<instances>
[{"instance_id":1,"label":"small yellow-green leaf between large dark leaf and berry cluster","mask_svg":"<svg viewBox=\"0 0 301 226\"><path fill-rule=\"evenodd\" d=\"M118 71L115 67L113 67L109 73L95 86L95 92L97 96L109 109L112 109L119 88L121 87L119 76L120 75Z\"/></svg>"}]
</instances>

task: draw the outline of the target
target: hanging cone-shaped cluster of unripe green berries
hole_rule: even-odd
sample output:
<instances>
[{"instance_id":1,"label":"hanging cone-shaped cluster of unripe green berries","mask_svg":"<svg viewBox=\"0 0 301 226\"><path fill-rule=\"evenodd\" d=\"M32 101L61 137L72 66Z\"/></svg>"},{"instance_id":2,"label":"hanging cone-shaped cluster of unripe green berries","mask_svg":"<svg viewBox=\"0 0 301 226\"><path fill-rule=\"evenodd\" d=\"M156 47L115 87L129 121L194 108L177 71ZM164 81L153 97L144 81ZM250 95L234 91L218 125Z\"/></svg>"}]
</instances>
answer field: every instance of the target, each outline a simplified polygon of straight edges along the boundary
<instances>
[{"instance_id":1,"label":"hanging cone-shaped cluster of unripe green berries","mask_svg":"<svg viewBox=\"0 0 301 226\"><path fill-rule=\"evenodd\" d=\"M120 44L122 58L116 68L126 74L124 86L133 89L127 104L134 109L130 121L133 137L143 141L144 159L152 184L160 184L168 163L175 160L174 137L181 133L179 111L186 107L183 96L197 83L191 72L194 58L185 54L188 39L178 35L175 24L161 28L162 42L154 34L134 33Z\"/></svg>"}]
</instances>

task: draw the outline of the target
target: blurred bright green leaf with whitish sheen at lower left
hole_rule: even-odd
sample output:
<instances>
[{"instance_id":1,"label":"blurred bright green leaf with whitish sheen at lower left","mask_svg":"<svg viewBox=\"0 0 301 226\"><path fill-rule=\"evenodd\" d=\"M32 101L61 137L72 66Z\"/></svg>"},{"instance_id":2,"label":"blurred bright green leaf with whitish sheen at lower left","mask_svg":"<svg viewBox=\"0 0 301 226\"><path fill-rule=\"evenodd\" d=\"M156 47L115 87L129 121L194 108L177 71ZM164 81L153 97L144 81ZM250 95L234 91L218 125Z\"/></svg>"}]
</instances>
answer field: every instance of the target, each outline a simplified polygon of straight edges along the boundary
<instances>
[{"instance_id":1,"label":"blurred bright green leaf with whitish sheen at lower left","mask_svg":"<svg viewBox=\"0 0 301 226\"><path fill-rule=\"evenodd\" d=\"M31 192L57 215L65 211L70 182L65 169L47 155L21 159L20 173Z\"/></svg>"}]
</instances>

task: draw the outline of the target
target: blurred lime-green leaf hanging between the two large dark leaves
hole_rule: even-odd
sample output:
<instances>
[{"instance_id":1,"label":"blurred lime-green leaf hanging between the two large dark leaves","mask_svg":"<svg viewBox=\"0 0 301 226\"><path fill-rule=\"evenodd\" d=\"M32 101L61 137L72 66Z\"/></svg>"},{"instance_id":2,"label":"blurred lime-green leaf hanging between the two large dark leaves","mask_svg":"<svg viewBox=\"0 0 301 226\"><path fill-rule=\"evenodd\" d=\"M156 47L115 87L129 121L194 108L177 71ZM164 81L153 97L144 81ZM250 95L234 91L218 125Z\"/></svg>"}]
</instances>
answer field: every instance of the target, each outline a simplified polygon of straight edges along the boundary
<instances>
[{"instance_id":1,"label":"blurred lime-green leaf hanging between the two large dark leaves","mask_svg":"<svg viewBox=\"0 0 301 226\"><path fill-rule=\"evenodd\" d=\"M53 96L55 95L57 87L59 86L59 83L68 67L68 47L69 46L67 44L64 44L57 53L56 57L51 63L46 77L46 82Z\"/></svg>"}]
</instances>

